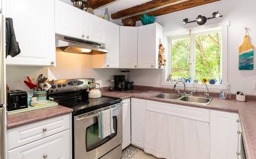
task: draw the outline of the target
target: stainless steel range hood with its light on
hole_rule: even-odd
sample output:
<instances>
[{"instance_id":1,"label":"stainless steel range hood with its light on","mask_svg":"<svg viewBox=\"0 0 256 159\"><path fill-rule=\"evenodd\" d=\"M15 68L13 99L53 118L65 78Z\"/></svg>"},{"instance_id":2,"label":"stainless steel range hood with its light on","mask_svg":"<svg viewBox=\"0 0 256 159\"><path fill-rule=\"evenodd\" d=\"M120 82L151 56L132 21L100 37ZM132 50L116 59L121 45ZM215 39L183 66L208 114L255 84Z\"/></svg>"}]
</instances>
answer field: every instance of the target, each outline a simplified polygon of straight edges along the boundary
<instances>
[{"instance_id":1,"label":"stainless steel range hood with its light on","mask_svg":"<svg viewBox=\"0 0 256 159\"><path fill-rule=\"evenodd\" d=\"M104 43L76 39L63 35L56 35L56 51L89 55L105 54L109 52L109 50L105 49Z\"/></svg>"}]
</instances>

